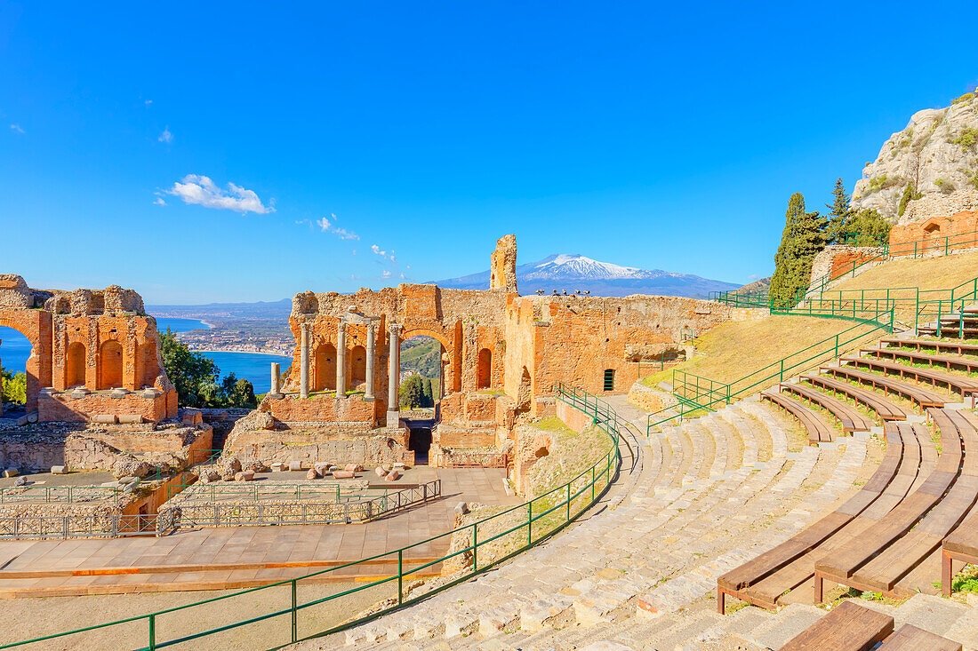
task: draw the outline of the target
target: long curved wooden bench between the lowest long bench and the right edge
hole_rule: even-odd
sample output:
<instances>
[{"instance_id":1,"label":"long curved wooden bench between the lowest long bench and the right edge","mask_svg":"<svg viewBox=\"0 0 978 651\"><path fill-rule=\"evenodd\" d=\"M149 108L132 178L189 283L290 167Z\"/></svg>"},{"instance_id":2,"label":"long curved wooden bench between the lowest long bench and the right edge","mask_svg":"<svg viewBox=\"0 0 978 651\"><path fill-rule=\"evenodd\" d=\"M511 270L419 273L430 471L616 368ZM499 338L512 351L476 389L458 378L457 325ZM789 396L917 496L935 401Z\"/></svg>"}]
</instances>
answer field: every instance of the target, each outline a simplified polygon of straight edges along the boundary
<instances>
[{"instance_id":1,"label":"long curved wooden bench between the lowest long bench and the right edge","mask_svg":"<svg viewBox=\"0 0 978 651\"><path fill-rule=\"evenodd\" d=\"M957 476L965 446L971 454L978 455L978 438L962 439L953 410L930 412L940 431L942 446L934 470L875 526L816 561L816 603L822 602L825 580L861 590L910 596L894 590L897 582L937 549L978 499L978 475Z\"/></svg>"}]
</instances>

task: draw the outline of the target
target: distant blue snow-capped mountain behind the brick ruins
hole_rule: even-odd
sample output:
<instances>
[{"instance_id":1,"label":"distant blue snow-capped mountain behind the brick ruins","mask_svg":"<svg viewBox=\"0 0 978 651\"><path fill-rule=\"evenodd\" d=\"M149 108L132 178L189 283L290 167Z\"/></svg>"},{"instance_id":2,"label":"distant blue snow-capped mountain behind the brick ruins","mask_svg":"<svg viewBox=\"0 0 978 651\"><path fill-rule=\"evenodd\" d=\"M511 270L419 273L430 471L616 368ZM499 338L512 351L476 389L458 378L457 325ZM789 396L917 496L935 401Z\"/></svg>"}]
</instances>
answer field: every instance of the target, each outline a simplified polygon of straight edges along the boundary
<instances>
[{"instance_id":1,"label":"distant blue snow-capped mountain behind the brick ruins","mask_svg":"<svg viewBox=\"0 0 978 651\"><path fill-rule=\"evenodd\" d=\"M597 296L627 296L628 294L657 294L666 296L705 297L713 290L735 289L733 282L711 281L690 274L674 274L661 269L623 267L601 262L584 255L559 253L538 262L516 267L516 282L520 294L532 294L538 289L545 293L591 291ZM437 281L442 287L485 289L489 272Z\"/></svg>"}]
</instances>

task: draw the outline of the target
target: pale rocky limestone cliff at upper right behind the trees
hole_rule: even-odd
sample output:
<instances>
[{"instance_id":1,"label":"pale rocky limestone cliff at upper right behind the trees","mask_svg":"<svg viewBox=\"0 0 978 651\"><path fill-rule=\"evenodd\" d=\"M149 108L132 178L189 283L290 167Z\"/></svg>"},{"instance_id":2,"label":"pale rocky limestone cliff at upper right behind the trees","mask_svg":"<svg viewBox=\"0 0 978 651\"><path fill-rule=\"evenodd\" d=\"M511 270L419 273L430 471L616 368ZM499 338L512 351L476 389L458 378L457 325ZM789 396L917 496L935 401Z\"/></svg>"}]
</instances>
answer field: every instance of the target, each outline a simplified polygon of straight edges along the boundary
<instances>
[{"instance_id":1,"label":"pale rocky limestone cliff at upper right behind the trees","mask_svg":"<svg viewBox=\"0 0 978 651\"><path fill-rule=\"evenodd\" d=\"M918 110L890 136L856 184L852 207L874 208L904 223L900 202L908 184L923 196L978 189L978 99L968 93L945 109Z\"/></svg>"}]
</instances>

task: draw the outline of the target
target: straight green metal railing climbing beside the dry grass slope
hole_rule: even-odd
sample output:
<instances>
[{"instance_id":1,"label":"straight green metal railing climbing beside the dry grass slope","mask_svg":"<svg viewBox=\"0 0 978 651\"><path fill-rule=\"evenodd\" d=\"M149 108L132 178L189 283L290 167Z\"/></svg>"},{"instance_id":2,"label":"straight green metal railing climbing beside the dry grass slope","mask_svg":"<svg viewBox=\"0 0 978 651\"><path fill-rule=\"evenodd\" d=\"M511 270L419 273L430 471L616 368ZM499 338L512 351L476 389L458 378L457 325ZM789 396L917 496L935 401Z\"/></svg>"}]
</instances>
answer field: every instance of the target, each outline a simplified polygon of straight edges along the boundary
<instances>
[{"instance_id":1,"label":"straight green metal railing climbing beside the dry grass slope","mask_svg":"<svg viewBox=\"0 0 978 651\"><path fill-rule=\"evenodd\" d=\"M882 314L877 314L874 319L863 320L733 382L720 382L683 369L673 369L672 392L678 405L649 413L645 422L645 435L650 436L655 427L666 422L676 419L682 422L684 418L694 414L716 411L730 405L735 398L767 388L776 379L783 382L786 375L804 372L822 362L835 359L840 351L845 351L857 341L871 341L884 332L892 332L893 310L886 314L889 319L884 320Z\"/></svg>"}]
</instances>

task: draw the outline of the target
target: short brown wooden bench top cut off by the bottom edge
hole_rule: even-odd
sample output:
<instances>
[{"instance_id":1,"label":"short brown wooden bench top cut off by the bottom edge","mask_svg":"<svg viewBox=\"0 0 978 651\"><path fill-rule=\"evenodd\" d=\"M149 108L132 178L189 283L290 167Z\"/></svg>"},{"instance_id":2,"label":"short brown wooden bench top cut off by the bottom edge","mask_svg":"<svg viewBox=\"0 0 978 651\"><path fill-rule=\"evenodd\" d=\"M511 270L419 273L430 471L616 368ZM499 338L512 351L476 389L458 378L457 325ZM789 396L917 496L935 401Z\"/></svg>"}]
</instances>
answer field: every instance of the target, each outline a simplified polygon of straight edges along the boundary
<instances>
[{"instance_id":1,"label":"short brown wooden bench top cut off by the bottom edge","mask_svg":"<svg viewBox=\"0 0 978 651\"><path fill-rule=\"evenodd\" d=\"M892 617L846 599L788 640L781 651L868 651L892 632Z\"/></svg>"}]
</instances>

